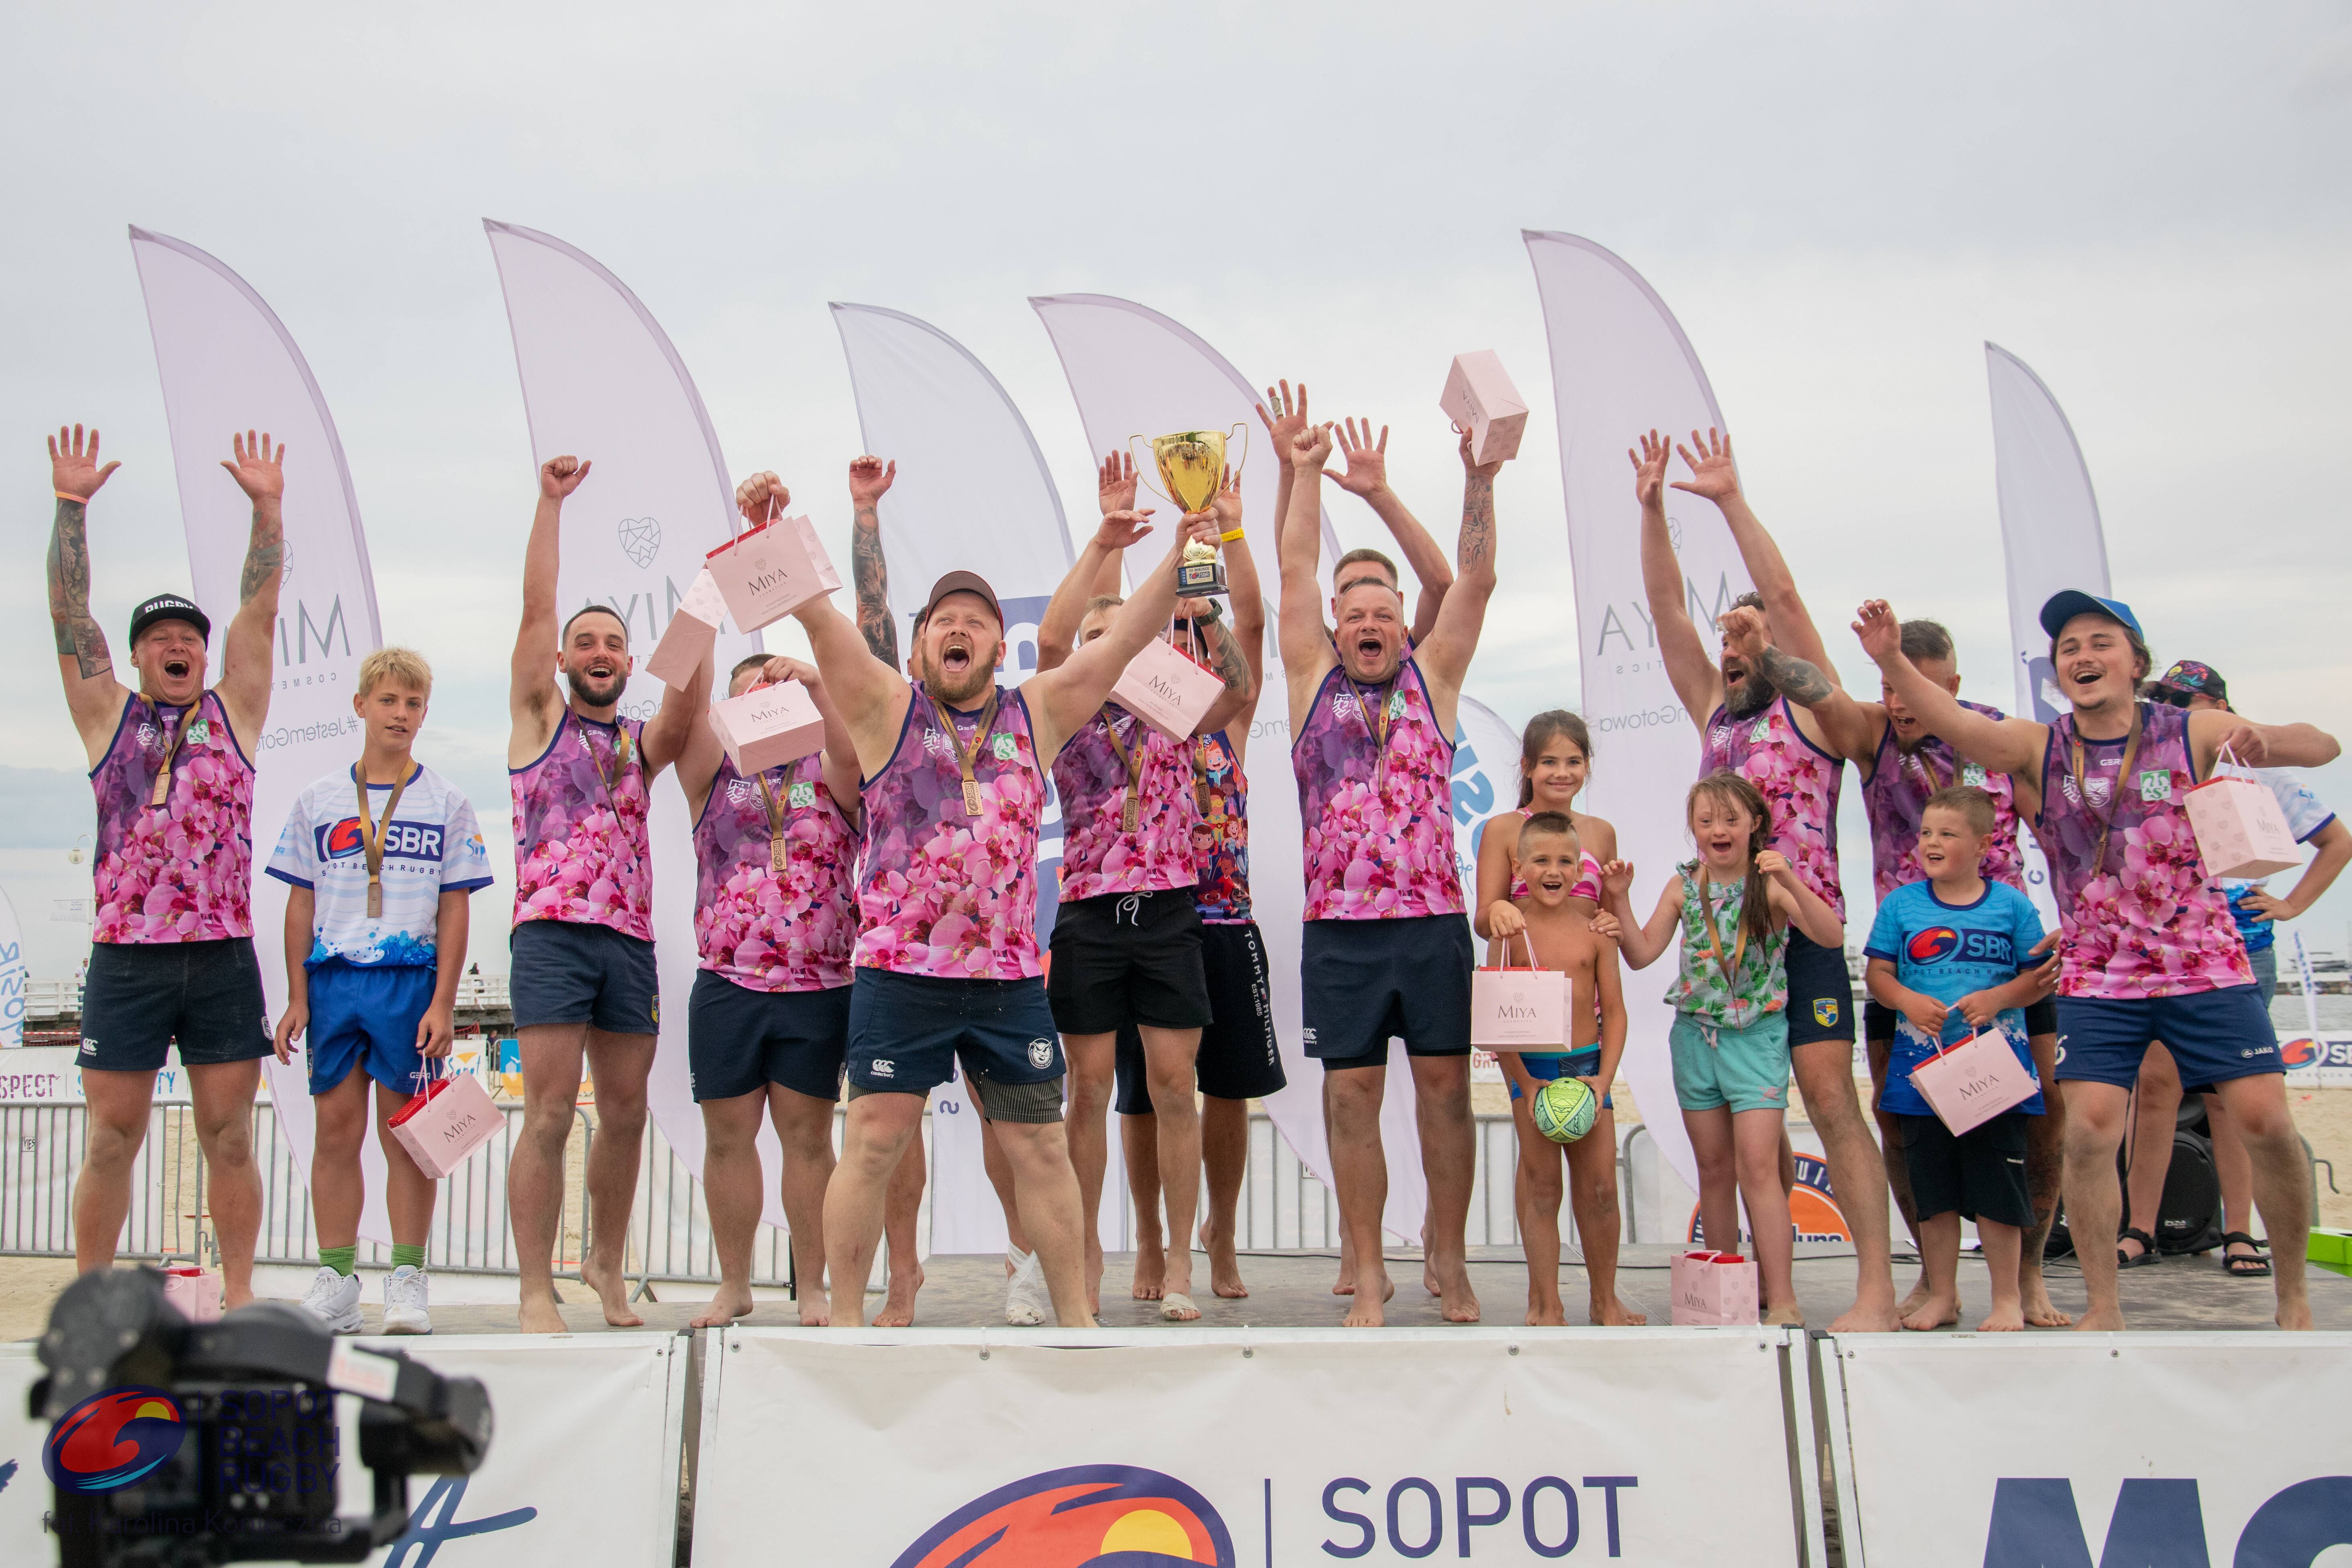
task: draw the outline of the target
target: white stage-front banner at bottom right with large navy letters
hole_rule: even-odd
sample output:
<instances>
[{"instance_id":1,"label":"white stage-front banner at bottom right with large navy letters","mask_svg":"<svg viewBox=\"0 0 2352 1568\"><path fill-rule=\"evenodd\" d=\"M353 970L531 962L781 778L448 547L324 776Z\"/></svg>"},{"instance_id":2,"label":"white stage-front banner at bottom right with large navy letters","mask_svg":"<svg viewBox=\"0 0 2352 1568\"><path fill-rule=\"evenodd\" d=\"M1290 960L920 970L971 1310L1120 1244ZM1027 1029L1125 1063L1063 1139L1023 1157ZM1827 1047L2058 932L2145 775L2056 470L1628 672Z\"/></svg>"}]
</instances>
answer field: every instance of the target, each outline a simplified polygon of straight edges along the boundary
<instances>
[{"instance_id":1,"label":"white stage-front banner at bottom right with large navy letters","mask_svg":"<svg viewBox=\"0 0 2352 1568\"><path fill-rule=\"evenodd\" d=\"M2352 1547L2352 1333L1820 1347L1853 1568L2314 1568Z\"/></svg>"}]
</instances>

